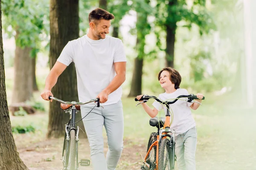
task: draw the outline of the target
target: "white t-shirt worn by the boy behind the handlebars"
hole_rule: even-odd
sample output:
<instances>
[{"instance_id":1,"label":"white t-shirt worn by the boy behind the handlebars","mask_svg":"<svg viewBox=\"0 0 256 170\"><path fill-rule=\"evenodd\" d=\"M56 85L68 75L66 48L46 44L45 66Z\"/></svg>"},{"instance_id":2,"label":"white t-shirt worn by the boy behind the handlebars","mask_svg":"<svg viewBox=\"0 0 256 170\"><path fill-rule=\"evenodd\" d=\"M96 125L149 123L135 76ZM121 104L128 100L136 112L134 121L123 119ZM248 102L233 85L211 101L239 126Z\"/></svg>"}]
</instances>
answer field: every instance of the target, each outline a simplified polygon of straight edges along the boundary
<instances>
[{"instance_id":1,"label":"white t-shirt worn by the boy behind the handlebars","mask_svg":"<svg viewBox=\"0 0 256 170\"><path fill-rule=\"evenodd\" d=\"M176 97L180 95L189 95L189 93L186 89L178 88L175 92L171 94L167 94L167 93L160 94L158 98L163 102L166 100L172 101L172 99L176 99ZM181 98L181 99L187 99L187 98ZM175 130L175 136L181 133L185 133L190 128L195 126L195 120L192 117L190 105L192 105L192 103L186 102L184 100L177 100L177 102L175 102L174 104L169 105L169 108L170 108L169 110L173 112L173 122L170 128ZM161 115L162 117L166 115L167 108L165 105L160 104L159 102L154 102L153 106L158 111L161 111L161 109L164 109L165 112L162 113L163 114ZM171 118L172 117L170 117L170 119Z\"/></svg>"}]
</instances>

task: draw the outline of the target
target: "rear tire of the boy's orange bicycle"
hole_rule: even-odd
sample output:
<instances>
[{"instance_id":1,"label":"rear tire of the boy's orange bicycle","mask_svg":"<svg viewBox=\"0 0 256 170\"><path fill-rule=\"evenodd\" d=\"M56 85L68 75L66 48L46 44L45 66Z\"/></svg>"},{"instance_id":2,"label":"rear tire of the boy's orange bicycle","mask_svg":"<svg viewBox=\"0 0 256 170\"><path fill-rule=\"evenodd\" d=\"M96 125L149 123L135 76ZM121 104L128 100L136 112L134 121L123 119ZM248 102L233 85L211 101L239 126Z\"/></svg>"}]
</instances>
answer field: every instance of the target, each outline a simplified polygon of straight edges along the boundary
<instances>
[{"instance_id":1,"label":"rear tire of the boy's orange bicycle","mask_svg":"<svg viewBox=\"0 0 256 170\"><path fill-rule=\"evenodd\" d=\"M149 139L148 139L148 148L147 148L147 153L149 150L149 147L151 146L152 143L154 143L156 139L156 133L153 132L150 134ZM153 160L152 160L153 158ZM157 159L157 147L153 146L150 153L148 154L148 157L146 158L146 162L149 164L149 169L148 170L154 170L155 169L155 163Z\"/></svg>"}]
</instances>

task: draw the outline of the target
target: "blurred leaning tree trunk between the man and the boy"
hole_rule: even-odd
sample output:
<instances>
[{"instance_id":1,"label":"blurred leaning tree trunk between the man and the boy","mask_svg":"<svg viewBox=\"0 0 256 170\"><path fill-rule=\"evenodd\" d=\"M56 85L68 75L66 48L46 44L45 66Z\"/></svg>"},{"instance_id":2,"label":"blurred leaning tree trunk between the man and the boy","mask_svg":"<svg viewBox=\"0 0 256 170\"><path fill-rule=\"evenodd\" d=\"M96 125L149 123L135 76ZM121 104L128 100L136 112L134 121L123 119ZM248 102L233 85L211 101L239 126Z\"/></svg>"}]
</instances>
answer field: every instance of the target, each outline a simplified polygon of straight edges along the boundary
<instances>
[{"instance_id":1,"label":"blurred leaning tree trunk between the man and the boy","mask_svg":"<svg viewBox=\"0 0 256 170\"><path fill-rule=\"evenodd\" d=\"M145 58L145 36L150 32L150 25L148 24L147 17L151 13L151 7L149 6L149 0L142 0L136 3L135 9L137 11L137 41L136 51L137 57L134 59L134 70L131 80L131 90L129 97L142 94L142 74L143 74L143 59ZM143 8L143 10L142 10Z\"/></svg>"}]
</instances>

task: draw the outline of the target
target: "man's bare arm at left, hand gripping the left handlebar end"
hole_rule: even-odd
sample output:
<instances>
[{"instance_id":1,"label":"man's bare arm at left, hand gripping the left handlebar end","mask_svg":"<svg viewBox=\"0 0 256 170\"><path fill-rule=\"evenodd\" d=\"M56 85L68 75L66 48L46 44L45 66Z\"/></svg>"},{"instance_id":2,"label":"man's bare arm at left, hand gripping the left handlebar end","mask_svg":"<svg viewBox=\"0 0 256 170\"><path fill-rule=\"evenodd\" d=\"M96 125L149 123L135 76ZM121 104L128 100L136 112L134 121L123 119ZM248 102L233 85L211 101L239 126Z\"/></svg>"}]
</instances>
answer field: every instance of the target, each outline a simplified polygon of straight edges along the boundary
<instances>
[{"instance_id":1,"label":"man's bare arm at left, hand gripping the left handlebar end","mask_svg":"<svg viewBox=\"0 0 256 170\"><path fill-rule=\"evenodd\" d=\"M44 100L49 100L49 96L53 96L51 90L52 90L53 86L56 84L58 77L61 75L61 73L66 68L67 68L67 65L64 65L58 61L52 67L51 71L49 72L49 74L45 80L44 91L41 93L41 97Z\"/></svg>"}]
</instances>

